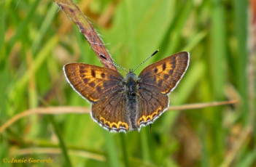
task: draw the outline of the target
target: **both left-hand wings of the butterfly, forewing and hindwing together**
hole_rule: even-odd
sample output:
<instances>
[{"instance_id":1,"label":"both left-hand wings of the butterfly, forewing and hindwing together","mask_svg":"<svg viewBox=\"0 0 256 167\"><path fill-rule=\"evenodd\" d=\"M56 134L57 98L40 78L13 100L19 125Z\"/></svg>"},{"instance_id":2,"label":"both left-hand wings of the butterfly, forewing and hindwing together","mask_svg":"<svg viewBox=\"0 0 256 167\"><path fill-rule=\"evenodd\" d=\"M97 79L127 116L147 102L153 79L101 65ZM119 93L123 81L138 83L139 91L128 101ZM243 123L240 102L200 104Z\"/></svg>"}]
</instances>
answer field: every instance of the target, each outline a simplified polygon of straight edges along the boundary
<instances>
[{"instance_id":1,"label":"both left-hand wings of the butterfly, forewing and hindwing together","mask_svg":"<svg viewBox=\"0 0 256 167\"><path fill-rule=\"evenodd\" d=\"M93 121L109 131L127 131L123 113L126 97L120 84L123 76L110 68L71 63L63 67L71 87L93 103L90 112Z\"/></svg>"}]
</instances>

